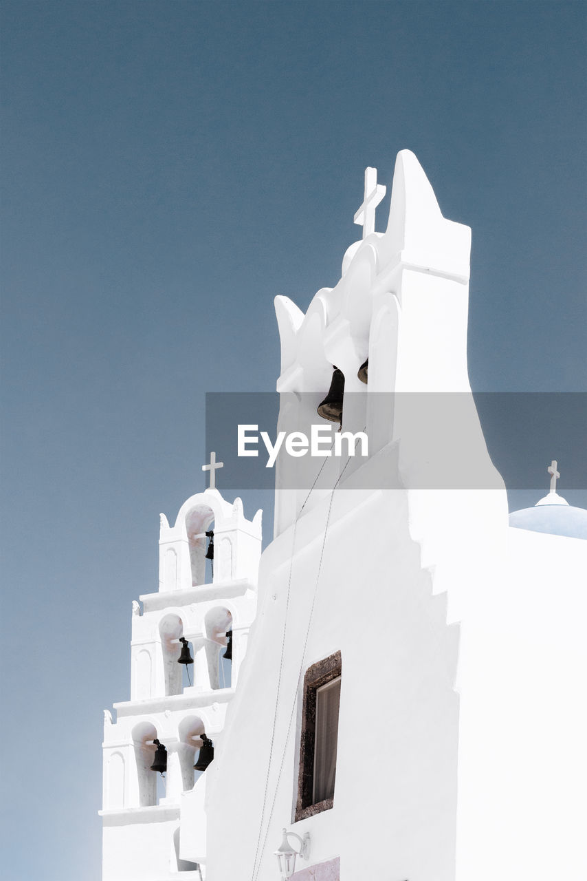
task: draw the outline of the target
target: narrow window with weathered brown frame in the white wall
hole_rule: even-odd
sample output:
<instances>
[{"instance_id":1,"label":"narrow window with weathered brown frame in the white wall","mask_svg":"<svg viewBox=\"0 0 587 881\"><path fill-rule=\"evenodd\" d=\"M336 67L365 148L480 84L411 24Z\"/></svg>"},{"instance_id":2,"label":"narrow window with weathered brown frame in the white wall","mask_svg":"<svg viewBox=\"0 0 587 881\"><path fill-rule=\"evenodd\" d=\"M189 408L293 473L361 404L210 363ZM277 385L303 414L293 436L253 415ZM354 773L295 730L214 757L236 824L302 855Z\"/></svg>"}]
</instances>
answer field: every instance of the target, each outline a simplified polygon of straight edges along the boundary
<instances>
[{"instance_id":1,"label":"narrow window with weathered brown frame in the white wall","mask_svg":"<svg viewBox=\"0 0 587 881\"><path fill-rule=\"evenodd\" d=\"M334 804L341 674L340 652L312 664L305 673L296 821Z\"/></svg>"}]
</instances>

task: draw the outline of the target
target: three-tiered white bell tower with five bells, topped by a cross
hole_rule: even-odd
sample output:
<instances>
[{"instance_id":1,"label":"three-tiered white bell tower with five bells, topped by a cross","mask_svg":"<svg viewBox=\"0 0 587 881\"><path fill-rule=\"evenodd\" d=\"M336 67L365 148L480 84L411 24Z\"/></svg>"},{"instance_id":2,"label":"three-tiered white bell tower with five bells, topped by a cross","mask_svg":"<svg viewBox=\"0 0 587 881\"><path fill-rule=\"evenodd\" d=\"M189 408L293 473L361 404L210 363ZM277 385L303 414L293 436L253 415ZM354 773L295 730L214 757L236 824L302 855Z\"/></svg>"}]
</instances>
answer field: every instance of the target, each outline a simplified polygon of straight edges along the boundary
<instances>
[{"instance_id":1,"label":"three-tiered white bell tower with five bells, topped by a cross","mask_svg":"<svg viewBox=\"0 0 587 881\"><path fill-rule=\"evenodd\" d=\"M206 778L257 603L261 511L210 485L160 515L158 591L132 604L130 700L104 712L103 879L206 877Z\"/></svg>"}]
</instances>

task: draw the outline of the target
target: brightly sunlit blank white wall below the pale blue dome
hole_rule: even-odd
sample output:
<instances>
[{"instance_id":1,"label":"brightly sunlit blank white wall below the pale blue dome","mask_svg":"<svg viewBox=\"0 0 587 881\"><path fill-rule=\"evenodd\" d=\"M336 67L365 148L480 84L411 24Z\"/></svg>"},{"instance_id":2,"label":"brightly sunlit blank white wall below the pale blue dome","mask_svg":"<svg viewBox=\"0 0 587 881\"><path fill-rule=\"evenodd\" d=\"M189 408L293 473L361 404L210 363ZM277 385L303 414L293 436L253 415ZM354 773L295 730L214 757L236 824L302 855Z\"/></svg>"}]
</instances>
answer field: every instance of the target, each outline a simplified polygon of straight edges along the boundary
<instances>
[{"instance_id":1,"label":"brightly sunlit blank white wall below the pale blue dome","mask_svg":"<svg viewBox=\"0 0 587 881\"><path fill-rule=\"evenodd\" d=\"M459 881L587 877L586 588L587 542L525 529L510 529L501 577L472 585Z\"/></svg>"}]
</instances>

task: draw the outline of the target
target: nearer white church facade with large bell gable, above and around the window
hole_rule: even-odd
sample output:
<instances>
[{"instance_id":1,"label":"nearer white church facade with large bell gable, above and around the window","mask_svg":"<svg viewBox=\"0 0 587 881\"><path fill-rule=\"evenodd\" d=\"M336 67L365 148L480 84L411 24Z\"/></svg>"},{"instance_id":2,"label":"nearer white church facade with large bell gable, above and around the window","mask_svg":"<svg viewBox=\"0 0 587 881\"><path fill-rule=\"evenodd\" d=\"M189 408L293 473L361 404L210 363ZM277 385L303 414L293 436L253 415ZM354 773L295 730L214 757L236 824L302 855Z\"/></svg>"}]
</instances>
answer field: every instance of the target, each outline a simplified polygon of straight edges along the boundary
<instances>
[{"instance_id":1,"label":"nearer white church facade with large bell gable, above and around the window","mask_svg":"<svg viewBox=\"0 0 587 881\"><path fill-rule=\"evenodd\" d=\"M507 507L473 398L467 397L470 230L442 216L426 175L409 151L400 152L396 162L387 230L374 233L373 228L371 222L363 228L363 241L353 244L344 257L341 280L334 289L321 289L306 315L287 298L277 299L282 342L277 388L325 393L333 365L341 369L345 393L354 392L345 395L345 430L360 431L369 423L376 435L371 461L363 469L358 461L349 463L347 487L359 485L365 471L376 478L374 486L383 474L397 474L399 486L434 486L425 468L437 477L465 452L474 453L482 473L487 470L494 479L496 493L487 510L480 498L463 492L361 492L341 486L334 493L320 564L328 485L334 484L334 472L342 464L327 463L324 485L306 502L307 492L282 489L286 471L295 470L295 463L278 464L276 539L261 562L260 615L251 632L223 749L209 769L210 817L226 804L229 780L249 796L246 811L239 805L229 808L229 821L239 830L237 850L251 871L258 851L259 881L273 877L272 850L282 826L290 825L294 816L305 669L338 650L341 724L334 808L293 828L312 833L312 863L341 857L342 881L454 878L458 629L446 626L447 597L455 620L468 584L478 577L479 560L485 561L488 549L499 545L506 532ZM434 430L422 432L422 425L414 428L409 404L402 410L397 401L382 418L357 378L367 354L371 390L390 395L465 393L470 404L466 432L443 411ZM315 421L307 401L292 401L293 396L289 403L282 400L280 429L292 420L297 427ZM304 502L304 515L294 526ZM275 705L277 759L267 778ZM246 762L239 759L243 753ZM236 867L222 852L217 827L210 824L209 830L209 881L232 877Z\"/></svg>"}]
</instances>

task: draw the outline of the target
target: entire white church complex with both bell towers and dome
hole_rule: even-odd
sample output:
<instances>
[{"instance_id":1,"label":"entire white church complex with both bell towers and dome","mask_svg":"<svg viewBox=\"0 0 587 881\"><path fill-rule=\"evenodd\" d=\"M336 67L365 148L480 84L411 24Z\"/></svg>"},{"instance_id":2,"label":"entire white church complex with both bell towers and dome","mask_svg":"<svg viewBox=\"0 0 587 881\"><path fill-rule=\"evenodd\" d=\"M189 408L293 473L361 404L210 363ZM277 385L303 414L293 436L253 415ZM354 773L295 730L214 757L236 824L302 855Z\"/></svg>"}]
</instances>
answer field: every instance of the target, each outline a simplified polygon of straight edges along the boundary
<instances>
[{"instance_id":1,"label":"entire white church complex with both bell towers and dome","mask_svg":"<svg viewBox=\"0 0 587 881\"><path fill-rule=\"evenodd\" d=\"M319 409L368 455L306 458L309 485L278 458L262 554L214 455L161 515L105 711L104 881L587 878L587 510L545 462L508 515L467 374L470 229L409 151L378 233L384 195L367 169L334 288L275 301L278 427Z\"/></svg>"}]
</instances>

